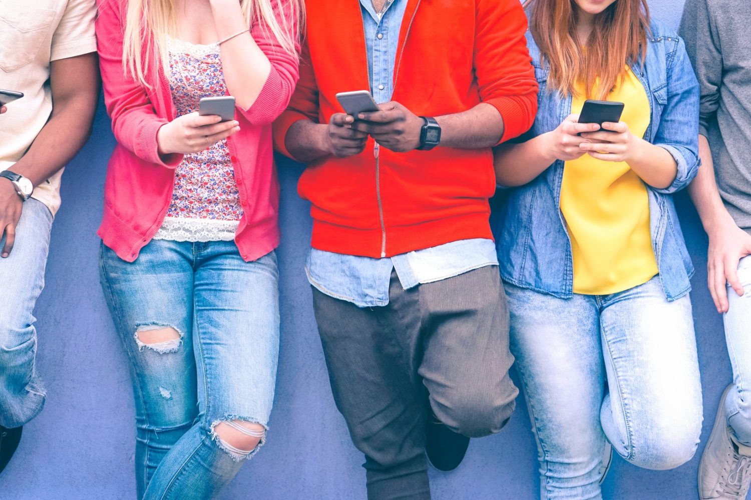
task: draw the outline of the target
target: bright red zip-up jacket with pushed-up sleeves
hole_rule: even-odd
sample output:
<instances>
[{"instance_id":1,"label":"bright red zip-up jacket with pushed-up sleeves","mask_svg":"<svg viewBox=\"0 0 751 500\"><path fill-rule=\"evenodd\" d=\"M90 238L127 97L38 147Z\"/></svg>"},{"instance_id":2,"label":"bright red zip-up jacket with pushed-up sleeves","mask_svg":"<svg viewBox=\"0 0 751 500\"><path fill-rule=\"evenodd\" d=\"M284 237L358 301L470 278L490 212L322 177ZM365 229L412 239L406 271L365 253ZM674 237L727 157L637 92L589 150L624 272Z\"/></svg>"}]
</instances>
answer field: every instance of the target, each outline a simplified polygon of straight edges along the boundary
<instances>
[{"instance_id":1,"label":"bright red zip-up jacket with pushed-up sleeves","mask_svg":"<svg viewBox=\"0 0 751 500\"><path fill-rule=\"evenodd\" d=\"M532 126L537 82L518 0L409 0L394 62L392 100L416 115L463 112L478 103L503 118L502 141ZM335 94L369 88L360 2L306 1L300 81L274 124L282 153L298 120L327 123L343 112ZM385 257L469 238L492 238L488 198L496 188L491 148L328 156L298 185L312 203L312 247Z\"/></svg>"}]
</instances>

